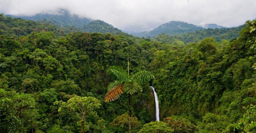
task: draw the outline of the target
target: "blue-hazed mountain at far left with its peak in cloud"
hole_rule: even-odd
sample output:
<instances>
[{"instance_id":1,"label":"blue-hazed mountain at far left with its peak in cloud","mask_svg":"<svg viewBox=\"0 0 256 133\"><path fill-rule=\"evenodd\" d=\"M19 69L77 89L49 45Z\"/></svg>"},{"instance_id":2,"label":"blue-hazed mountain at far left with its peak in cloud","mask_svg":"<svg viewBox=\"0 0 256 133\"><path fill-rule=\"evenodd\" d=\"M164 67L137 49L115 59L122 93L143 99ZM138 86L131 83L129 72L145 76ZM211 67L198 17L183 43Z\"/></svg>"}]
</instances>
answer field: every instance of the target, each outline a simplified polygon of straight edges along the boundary
<instances>
[{"instance_id":1,"label":"blue-hazed mountain at far left with its peak in cloud","mask_svg":"<svg viewBox=\"0 0 256 133\"><path fill-rule=\"evenodd\" d=\"M42 22L52 22L57 27L62 26L74 26L74 27L81 27L89 22L92 19L79 17L78 15L70 14L68 11L61 9L58 14L45 14L39 13L35 16L14 16L14 15L6 15L11 16L13 18L22 18L26 20L33 20L38 21L41 20Z\"/></svg>"}]
</instances>

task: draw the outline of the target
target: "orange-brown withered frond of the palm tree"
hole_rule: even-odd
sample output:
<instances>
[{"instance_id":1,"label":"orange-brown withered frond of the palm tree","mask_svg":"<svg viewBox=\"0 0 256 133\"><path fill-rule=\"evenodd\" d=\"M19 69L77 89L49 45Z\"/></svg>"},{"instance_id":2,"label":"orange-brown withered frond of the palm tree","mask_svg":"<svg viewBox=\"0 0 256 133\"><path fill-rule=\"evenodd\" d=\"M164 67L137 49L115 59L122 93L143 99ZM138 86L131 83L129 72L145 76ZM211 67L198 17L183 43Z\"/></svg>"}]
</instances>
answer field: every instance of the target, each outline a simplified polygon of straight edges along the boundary
<instances>
[{"instance_id":1,"label":"orange-brown withered frond of the palm tree","mask_svg":"<svg viewBox=\"0 0 256 133\"><path fill-rule=\"evenodd\" d=\"M123 94L124 91L124 85L118 85L109 90L105 95L105 102L111 102L115 101L118 97L120 97L121 94Z\"/></svg>"}]
</instances>

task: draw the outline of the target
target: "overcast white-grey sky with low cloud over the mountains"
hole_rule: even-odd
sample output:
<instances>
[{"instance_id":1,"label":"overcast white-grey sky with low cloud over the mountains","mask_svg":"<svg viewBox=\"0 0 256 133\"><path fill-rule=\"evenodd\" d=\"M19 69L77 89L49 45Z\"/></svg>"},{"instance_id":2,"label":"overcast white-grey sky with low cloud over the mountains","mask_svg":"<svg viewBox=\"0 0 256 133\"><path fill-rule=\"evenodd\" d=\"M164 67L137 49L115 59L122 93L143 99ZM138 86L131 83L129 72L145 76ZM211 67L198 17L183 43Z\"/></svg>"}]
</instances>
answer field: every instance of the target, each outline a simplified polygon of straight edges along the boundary
<instances>
[{"instance_id":1,"label":"overcast white-grey sky with low cloud over the mountains","mask_svg":"<svg viewBox=\"0 0 256 133\"><path fill-rule=\"evenodd\" d=\"M169 21L239 26L256 18L256 0L0 0L0 12L32 16L58 12L100 19L126 32Z\"/></svg>"}]
</instances>

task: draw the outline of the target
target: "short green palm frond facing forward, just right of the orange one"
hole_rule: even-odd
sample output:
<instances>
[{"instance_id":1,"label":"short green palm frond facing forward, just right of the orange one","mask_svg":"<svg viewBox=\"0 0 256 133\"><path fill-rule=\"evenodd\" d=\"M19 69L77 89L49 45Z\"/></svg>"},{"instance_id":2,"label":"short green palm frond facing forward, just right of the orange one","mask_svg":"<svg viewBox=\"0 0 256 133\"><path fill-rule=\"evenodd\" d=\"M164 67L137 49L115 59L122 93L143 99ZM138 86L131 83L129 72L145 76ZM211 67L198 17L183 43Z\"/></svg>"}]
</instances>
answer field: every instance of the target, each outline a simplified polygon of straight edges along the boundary
<instances>
[{"instance_id":1,"label":"short green palm frond facing forward, just right of the orange one","mask_svg":"<svg viewBox=\"0 0 256 133\"><path fill-rule=\"evenodd\" d=\"M131 82L126 82L124 84L124 91L128 94L134 94L135 92L141 93L142 92L142 88L141 86L136 83L135 81L131 81Z\"/></svg>"}]
</instances>

